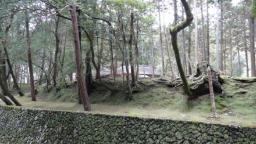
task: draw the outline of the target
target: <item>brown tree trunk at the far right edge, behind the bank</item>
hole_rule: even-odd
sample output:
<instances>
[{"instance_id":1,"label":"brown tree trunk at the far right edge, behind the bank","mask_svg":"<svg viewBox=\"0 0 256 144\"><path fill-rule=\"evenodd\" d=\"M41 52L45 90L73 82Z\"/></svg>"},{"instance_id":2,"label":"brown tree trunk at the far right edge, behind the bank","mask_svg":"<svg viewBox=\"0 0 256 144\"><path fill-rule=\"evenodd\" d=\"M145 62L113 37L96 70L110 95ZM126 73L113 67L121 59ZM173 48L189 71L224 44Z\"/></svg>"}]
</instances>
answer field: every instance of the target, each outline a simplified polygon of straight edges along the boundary
<instances>
[{"instance_id":1,"label":"brown tree trunk at the far right edge, behind the bank","mask_svg":"<svg viewBox=\"0 0 256 144\"><path fill-rule=\"evenodd\" d=\"M255 42L254 42L254 18L250 17L250 53L251 53L251 77L256 77L255 70Z\"/></svg>"}]
</instances>

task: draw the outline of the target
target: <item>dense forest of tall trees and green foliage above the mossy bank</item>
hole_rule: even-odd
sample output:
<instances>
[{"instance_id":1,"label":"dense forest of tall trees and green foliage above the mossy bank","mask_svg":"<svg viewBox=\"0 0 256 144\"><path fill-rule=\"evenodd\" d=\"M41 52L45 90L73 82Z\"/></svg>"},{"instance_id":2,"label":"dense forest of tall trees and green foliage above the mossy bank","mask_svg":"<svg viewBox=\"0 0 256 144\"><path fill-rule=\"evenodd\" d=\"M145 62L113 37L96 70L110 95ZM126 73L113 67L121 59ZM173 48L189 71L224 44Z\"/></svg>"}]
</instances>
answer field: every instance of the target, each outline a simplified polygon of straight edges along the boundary
<instances>
[{"instance_id":1,"label":"dense forest of tall trees and green foliage above the mossy bank","mask_svg":"<svg viewBox=\"0 0 256 144\"><path fill-rule=\"evenodd\" d=\"M9 84L20 96L20 85L30 84L36 101L35 85L49 92L77 82L78 101L91 110L95 80L117 91L104 71L123 81L129 101L140 66L152 67L151 78L157 71L161 80L181 77L187 95L194 95L187 77L202 62L221 75L256 77L254 0L0 0L0 9L0 98L6 105L22 105Z\"/></svg>"}]
</instances>

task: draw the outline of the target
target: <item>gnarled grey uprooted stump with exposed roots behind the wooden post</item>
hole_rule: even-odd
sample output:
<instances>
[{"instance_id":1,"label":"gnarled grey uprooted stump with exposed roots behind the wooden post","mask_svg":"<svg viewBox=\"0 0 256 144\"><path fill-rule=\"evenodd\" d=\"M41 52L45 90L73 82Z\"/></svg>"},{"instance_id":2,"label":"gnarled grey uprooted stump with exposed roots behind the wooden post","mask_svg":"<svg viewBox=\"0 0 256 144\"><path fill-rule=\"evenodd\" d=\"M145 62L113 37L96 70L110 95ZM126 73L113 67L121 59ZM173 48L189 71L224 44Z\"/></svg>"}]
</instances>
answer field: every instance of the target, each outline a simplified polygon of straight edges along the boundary
<instances>
[{"instance_id":1,"label":"gnarled grey uprooted stump with exposed roots behind the wooden post","mask_svg":"<svg viewBox=\"0 0 256 144\"><path fill-rule=\"evenodd\" d=\"M209 64L207 62L198 63L197 69L195 70L195 74L187 78L187 81L190 85L190 91L193 94L192 96L200 96L209 93L209 82L207 74L208 66ZM211 74L214 92L222 93L222 78L220 77L219 73L217 71L214 71L213 69L211 69ZM168 84L168 87L177 87L179 85L183 85L183 82L180 80L180 78L177 78L176 80L170 82Z\"/></svg>"}]
</instances>

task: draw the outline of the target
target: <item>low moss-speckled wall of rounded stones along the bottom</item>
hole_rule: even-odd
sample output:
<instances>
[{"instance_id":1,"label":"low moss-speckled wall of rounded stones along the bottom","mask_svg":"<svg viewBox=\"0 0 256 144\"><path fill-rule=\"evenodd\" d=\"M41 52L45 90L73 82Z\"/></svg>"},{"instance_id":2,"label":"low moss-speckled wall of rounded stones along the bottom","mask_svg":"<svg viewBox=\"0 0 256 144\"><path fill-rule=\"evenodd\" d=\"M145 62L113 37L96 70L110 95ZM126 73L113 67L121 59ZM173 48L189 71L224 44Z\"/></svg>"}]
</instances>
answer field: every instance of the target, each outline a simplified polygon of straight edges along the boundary
<instances>
[{"instance_id":1,"label":"low moss-speckled wall of rounded stones along the bottom","mask_svg":"<svg viewBox=\"0 0 256 144\"><path fill-rule=\"evenodd\" d=\"M0 106L0 143L256 143L256 128Z\"/></svg>"}]
</instances>

